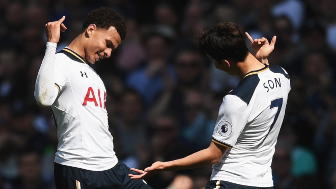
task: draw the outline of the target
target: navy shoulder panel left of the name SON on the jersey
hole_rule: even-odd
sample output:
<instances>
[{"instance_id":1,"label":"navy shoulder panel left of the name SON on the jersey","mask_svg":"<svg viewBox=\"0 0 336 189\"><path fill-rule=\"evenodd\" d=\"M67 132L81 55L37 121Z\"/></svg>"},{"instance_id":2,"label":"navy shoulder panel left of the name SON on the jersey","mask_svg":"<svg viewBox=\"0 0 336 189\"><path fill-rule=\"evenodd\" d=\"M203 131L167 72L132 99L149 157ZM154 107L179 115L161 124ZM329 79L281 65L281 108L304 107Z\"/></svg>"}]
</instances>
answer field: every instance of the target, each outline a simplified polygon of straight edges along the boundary
<instances>
[{"instance_id":1,"label":"navy shoulder panel left of the name SON on the jersey","mask_svg":"<svg viewBox=\"0 0 336 189\"><path fill-rule=\"evenodd\" d=\"M259 84L259 81L260 79L258 74L249 75L241 80L237 87L230 91L227 96L236 96L248 105Z\"/></svg>"}]
</instances>

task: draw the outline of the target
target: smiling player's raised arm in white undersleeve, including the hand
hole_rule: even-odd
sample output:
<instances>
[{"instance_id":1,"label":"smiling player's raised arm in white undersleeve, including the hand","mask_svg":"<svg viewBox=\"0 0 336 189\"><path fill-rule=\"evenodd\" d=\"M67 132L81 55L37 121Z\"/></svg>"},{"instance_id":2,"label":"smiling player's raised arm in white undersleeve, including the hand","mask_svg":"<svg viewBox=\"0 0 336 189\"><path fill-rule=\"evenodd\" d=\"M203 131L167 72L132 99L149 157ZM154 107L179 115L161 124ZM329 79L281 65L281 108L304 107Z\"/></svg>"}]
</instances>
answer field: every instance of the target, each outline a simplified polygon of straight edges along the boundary
<instances>
[{"instance_id":1,"label":"smiling player's raised arm in white undersleeve, including the hand","mask_svg":"<svg viewBox=\"0 0 336 189\"><path fill-rule=\"evenodd\" d=\"M54 61L57 43L60 40L60 30L65 31L67 29L62 23L64 19L65 16L58 21L45 24L48 42L42 64L36 78L34 90L36 102L43 107L51 106L60 92L60 88L55 85L54 82Z\"/></svg>"}]
</instances>

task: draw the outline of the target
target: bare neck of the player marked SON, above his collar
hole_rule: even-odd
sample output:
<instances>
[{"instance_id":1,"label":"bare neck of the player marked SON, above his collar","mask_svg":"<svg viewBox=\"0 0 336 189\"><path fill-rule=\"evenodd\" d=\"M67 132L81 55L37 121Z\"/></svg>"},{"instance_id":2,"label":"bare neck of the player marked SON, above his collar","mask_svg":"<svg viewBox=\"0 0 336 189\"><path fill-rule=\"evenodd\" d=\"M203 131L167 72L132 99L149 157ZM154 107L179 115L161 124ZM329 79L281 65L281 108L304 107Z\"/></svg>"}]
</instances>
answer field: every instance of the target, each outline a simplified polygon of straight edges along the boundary
<instances>
[{"instance_id":1,"label":"bare neck of the player marked SON, above his collar","mask_svg":"<svg viewBox=\"0 0 336 189\"><path fill-rule=\"evenodd\" d=\"M248 72L265 68L265 65L251 53L248 53L246 59L243 62L238 62L236 67L236 75L239 79L242 79Z\"/></svg>"}]
</instances>

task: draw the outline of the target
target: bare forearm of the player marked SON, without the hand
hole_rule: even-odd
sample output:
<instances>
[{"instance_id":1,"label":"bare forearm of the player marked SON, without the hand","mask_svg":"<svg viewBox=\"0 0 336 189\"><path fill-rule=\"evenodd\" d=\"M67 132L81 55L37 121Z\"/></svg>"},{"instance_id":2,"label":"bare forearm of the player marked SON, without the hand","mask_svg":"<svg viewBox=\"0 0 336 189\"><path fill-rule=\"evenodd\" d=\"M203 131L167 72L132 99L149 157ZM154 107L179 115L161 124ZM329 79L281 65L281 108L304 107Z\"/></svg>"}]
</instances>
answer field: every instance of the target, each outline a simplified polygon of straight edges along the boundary
<instances>
[{"instance_id":1,"label":"bare forearm of the player marked SON, without the hand","mask_svg":"<svg viewBox=\"0 0 336 189\"><path fill-rule=\"evenodd\" d=\"M218 163L221 154L212 153L209 148L195 152L179 160L165 162L162 171L193 169Z\"/></svg>"}]
</instances>

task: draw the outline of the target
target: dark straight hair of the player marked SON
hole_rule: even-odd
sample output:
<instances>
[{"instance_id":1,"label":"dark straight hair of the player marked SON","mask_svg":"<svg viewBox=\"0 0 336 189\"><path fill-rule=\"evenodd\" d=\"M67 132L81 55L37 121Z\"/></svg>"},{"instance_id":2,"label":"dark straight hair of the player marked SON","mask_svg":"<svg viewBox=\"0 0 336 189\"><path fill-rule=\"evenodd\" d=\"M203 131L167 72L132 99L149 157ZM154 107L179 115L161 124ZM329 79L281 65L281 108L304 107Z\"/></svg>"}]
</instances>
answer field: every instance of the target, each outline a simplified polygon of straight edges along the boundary
<instances>
[{"instance_id":1,"label":"dark straight hair of the player marked SON","mask_svg":"<svg viewBox=\"0 0 336 189\"><path fill-rule=\"evenodd\" d=\"M220 22L202 30L198 46L203 57L210 56L217 61L230 58L242 62L249 52L238 25L232 22Z\"/></svg>"}]
</instances>

